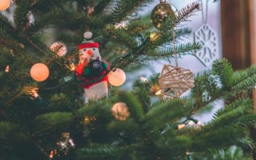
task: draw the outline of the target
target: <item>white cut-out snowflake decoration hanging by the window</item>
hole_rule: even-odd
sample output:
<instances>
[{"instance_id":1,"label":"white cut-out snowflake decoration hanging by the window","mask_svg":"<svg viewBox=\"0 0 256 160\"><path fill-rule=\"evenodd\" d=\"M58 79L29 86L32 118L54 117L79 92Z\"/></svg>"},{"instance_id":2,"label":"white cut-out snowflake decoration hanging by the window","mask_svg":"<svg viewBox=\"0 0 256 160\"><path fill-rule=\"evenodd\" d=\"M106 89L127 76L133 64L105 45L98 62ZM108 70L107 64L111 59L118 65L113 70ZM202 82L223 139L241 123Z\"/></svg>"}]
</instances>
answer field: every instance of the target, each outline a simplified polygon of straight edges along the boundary
<instances>
[{"instance_id":1,"label":"white cut-out snowflake decoration hanging by the window","mask_svg":"<svg viewBox=\"0 0 256 160\"><path fill-rule=\"evenodd\" d=\"M202 49L197 52L197 58L208 66L217 57L217 41L216 33L207 24L202 25L194 34L195 42L199 42L202 45Z\"/></svg>"}]
</instances>

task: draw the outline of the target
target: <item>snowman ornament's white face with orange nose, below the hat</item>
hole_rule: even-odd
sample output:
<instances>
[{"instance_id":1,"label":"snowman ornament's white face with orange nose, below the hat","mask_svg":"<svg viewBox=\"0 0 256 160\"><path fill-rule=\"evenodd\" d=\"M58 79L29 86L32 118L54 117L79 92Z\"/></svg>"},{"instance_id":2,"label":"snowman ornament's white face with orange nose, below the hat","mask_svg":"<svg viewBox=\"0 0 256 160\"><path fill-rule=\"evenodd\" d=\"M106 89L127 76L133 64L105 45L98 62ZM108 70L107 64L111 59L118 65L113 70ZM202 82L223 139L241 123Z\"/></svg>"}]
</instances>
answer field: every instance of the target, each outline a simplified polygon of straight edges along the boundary
<instances>
[{"instance_id":1,"label":"snowman ornament's white face with orange nose, below the hat","mask_svg":"<svg viewBox=\"0 0 256 160\"><path fill-rule=\"evenodd\" d=\"M86 58L96 60L100 59L99 49L98 48L86 48L79 50L79 59L84 60Z\"/></svg>"}]
</instances>

